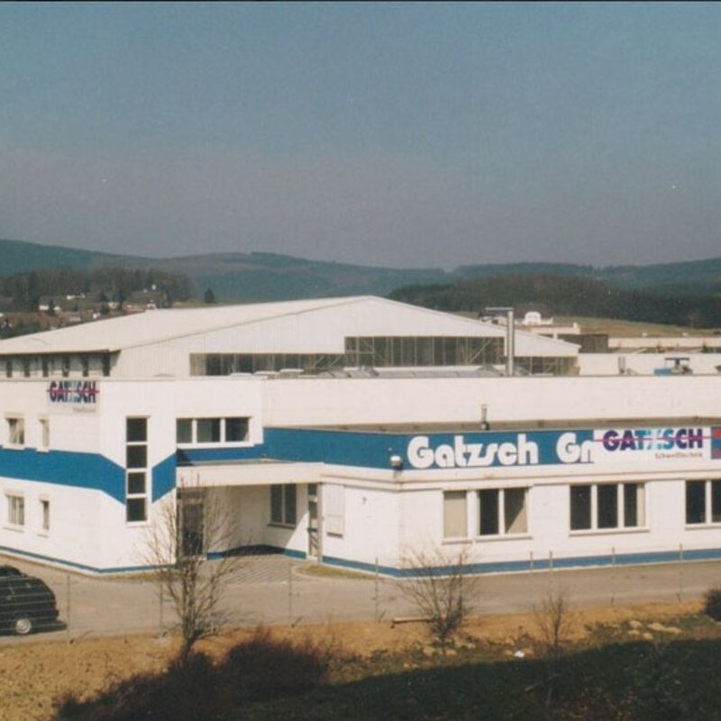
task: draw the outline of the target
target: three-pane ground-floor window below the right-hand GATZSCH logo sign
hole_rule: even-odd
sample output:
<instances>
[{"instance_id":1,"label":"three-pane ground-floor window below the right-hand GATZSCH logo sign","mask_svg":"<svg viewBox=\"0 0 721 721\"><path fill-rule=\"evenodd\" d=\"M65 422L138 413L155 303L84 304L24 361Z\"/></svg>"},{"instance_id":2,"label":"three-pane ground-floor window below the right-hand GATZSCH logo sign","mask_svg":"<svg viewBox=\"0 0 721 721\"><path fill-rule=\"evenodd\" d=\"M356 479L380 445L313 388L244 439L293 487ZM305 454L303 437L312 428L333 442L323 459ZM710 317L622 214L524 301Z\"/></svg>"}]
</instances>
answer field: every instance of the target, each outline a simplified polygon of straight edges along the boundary
<instances>
[{"instance_id":1,"label":"three-pane ground-floor window below the right-hand GATZSCH logo sign","mask_svg":"<svg viewBox=\"0 0 721 721\"><path fill-rule=\"evenodd\" d=\"M636 528L645 523L643 483L570 486L570 530Z\"/></svg>"}]
</instances>

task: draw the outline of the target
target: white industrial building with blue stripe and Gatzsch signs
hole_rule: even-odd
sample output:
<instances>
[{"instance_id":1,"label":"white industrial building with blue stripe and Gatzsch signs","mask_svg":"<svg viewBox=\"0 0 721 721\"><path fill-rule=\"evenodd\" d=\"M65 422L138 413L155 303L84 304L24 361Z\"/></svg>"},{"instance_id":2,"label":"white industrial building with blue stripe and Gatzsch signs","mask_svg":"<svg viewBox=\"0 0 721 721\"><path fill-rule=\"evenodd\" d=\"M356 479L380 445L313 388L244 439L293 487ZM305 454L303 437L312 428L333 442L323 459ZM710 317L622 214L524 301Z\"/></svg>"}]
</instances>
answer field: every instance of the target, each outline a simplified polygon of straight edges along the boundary
<instances>
[{"instance_id":1,"label":"white industrial building with blue stripe and Gatzsch signs","mask_svg":"<svg viewBox=\"0 0 721 721\"><path fill-rule=\"evenodd\" d=\"M388 574L721 557L721 376L584 375L530 333L514 364L504 328L375 297L0 342L0 550L136 570L160 504L214 499L208 552Z\"/></svg>"}]
</instances>

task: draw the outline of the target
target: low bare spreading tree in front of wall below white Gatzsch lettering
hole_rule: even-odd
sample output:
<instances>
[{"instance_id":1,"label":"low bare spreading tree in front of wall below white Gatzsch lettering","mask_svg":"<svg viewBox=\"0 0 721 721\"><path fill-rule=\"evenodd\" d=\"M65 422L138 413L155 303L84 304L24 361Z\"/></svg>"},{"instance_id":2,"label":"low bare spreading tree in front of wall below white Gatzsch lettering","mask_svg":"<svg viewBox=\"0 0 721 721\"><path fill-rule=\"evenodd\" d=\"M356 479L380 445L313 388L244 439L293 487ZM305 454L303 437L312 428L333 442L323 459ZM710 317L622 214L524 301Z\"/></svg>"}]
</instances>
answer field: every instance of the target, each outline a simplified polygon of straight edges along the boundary
<instances>
[{"instance_id":1,"label":"low bare spreading tree in front of wall below white Gatzsch lettering","mask_svg":"<svg viewBox=\"0 0 721 721\"><path fill-rule=\"evenodd\" d=\"M467 552L412 552L405 559L402 592L428 622L443 652L472 610L478 580L467 573Z\"/></svg>"}]
</instances>

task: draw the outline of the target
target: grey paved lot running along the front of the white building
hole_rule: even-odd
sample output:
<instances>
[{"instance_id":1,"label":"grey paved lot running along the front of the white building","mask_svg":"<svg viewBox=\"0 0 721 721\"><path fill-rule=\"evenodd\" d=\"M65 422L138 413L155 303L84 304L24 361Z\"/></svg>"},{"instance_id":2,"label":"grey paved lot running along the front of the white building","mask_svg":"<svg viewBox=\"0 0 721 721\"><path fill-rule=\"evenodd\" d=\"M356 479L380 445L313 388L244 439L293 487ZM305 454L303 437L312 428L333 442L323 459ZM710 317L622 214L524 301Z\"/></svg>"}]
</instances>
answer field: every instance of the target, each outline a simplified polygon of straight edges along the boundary
<instances>
[{"instance_id":1,"label":"grey paved lot running along the front of the white building","mask_svg":"<svg viewBox=\"0 0 721 721\"><path fill-rule=\"evenodd\" d=\"M174 625L167 598L141 576L99 578L0 557L44 580L55 592L63 630L34 638L160 633ZM415 615L403 581L382 577L317 576L307 561L282 555L251 556L224 592L224 622L230 625L309 624L389 619ZM473 606L479 613L530 611L550 589L577 606L620 606L701 598L721 583L721 561L685 561L604 569L535 571L478 577ZM3 636L2 643L27 638Z\"/></svg>"}]
</instances>

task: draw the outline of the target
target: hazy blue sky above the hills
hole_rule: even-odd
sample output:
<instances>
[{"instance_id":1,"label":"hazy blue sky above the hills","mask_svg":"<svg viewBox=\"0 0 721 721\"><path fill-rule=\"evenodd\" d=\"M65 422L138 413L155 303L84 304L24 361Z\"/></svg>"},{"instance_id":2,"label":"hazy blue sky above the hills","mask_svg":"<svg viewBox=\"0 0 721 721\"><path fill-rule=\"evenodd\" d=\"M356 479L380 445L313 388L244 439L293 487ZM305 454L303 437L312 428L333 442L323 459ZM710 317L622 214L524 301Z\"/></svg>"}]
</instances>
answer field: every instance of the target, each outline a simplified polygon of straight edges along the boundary
<instances>
[{"instance_id":1,"label":"hazy blue sky above the hills","mask_svg":"<svg viewBox=\"0 0 721 721\"><path fill-rule=\"evenodd\" d=\"M721 5L0 5L0 238L452 268L719 229Z\"/></svg>"}]
</instances>

